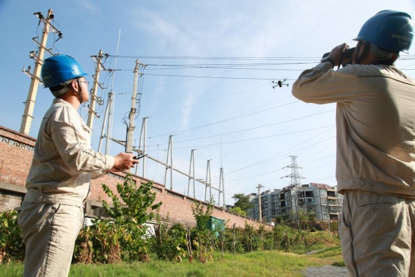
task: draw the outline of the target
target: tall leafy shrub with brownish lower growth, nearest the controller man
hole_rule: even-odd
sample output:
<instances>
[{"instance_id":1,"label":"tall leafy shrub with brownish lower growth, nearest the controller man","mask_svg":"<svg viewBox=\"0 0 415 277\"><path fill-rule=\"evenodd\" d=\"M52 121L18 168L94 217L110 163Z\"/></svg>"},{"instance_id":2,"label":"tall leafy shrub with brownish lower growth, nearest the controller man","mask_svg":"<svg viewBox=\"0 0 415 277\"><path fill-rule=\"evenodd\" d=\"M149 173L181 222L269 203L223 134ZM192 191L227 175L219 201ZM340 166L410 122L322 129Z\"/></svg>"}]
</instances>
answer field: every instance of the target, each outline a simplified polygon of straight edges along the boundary
<instances>
[{"instance_id":1,"label":"tall leafy shrub with brownish lower growth, nearest the controller man","mask_svg":"<svg viewBox=\"0 0 415 277\"><path fill-rule=\"evenodd\" d=\"M152 182L137 187L131 175L127 175L124 184L117 184L120 199L106 184L102 184L113 207L105 201L102 201L102 206L112 219L95 220L91 227L82 229L75 246L75 261L149 261L145 223L154 218L153 211L162 204L153 204L156 193L151 191L152 187Z\"/></svg>"}]
</instances>

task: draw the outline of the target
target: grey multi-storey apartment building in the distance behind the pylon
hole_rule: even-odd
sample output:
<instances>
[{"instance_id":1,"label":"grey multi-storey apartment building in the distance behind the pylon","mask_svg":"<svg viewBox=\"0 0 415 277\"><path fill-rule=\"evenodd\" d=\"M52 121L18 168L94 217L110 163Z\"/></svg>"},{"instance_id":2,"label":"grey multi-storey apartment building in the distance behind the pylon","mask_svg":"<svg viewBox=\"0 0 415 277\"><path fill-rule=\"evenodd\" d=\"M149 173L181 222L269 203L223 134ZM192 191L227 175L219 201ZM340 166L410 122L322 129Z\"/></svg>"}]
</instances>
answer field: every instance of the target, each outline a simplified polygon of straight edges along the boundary
<instances>
[{"instance_id":1,"label":"grey multi-storey apartment building in the distance behind the pylon","mask_svg":"<svg viewBox=\"0 0 415 277\"><path fill-rule=\"evenodd\" d=\"M328 184L302 184L273 191L261 192L261 217L264 222L273 222L277 216L291 216L296 209L314 213L317 220L338 220L342 209L343 197L336 187ZM257 193L249 195L254 204L247 216L259 219L259 199Z\"/></svg>"}]
</instances>

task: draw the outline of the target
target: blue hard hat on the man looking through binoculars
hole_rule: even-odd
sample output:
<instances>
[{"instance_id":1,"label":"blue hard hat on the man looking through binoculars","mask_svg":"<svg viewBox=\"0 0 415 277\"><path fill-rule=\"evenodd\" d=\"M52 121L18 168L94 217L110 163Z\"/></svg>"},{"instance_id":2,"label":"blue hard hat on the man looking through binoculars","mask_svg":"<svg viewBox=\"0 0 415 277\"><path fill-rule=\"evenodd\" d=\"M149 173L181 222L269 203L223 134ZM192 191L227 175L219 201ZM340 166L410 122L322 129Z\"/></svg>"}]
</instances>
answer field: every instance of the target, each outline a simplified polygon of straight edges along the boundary
<instances>
[{"instance_id":1,"label":"blue hard hat on the man looking through binoculars","mask_svg":"<svg viewBox=\"0 0 415 277\"><path fill-rule=\"evenodd\" d=\"M369 41L379 48L407 51L414 37L412 18L406 12L382 10L363 24L357 41Z\"/></svg>"}]
</instances>

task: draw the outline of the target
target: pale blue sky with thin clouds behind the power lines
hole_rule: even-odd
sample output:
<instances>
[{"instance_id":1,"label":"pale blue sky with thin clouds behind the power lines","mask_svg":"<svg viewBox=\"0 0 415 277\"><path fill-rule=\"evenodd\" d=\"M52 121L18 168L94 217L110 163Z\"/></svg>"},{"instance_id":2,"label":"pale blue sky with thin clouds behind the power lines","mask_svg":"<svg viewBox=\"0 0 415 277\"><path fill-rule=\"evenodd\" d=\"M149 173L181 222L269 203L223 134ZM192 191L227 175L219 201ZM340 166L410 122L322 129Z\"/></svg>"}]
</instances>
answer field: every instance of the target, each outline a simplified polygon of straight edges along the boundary
<instances>
[{"instance_id":1,"label":"pale blue sky with thin clouds behind the power lines","mask_svg":"<svg viewBox=\"0 0 415 277\"><path fill-rule=\"evenodd\" d=\"M147 66L139 82L142 98L134 145L138 146L142 118L148 117L147 153L166 162L169 135L174 135L175 168L189 173L195 149L196 179L206 179L210 160L211 182L217 188L223 167L226 204L234 202L234 193L257 192L257 184L263 190L286 187L291 155L302 167L303 183L335 186L335 104L300 102L291 95L291 86L324 52L343 42L355 46L352 39L376 12L402 10L415 16L412 0L393 4L389 0L1 0L0 125L16 131L30 86L21 69L33 68L29 52L37 45L32 38L42 36L33 13L47 15L48 9L63 34L58 41L49 35L52 52L77 59L91 83L95 70L91 56L101 49L110 55L107 68L116 69L101 72L100 82L107 88L98 91L103 105L97 107L100 118L93 124L93 149L98 150L111 89L115 94L111 135L125 139L123 118L131 107L133 68L139 59ZM401 56L398 67L415 77L413 48L412 55ZM273 81L284 79L288 87L273 89ZM31 136L37 137L52 99L40 86ZM80 114L86 121L85 107ZM111 155L124 151L115 142L109 149ZM145 177L163 184L165 166L147 161ZM175 191L187 194L188 183L187 177L174 172ZM203 184L196 182L195 194L205 198ZM216 191L214 197L217 202Z\"/></svg>"}]
</instances>

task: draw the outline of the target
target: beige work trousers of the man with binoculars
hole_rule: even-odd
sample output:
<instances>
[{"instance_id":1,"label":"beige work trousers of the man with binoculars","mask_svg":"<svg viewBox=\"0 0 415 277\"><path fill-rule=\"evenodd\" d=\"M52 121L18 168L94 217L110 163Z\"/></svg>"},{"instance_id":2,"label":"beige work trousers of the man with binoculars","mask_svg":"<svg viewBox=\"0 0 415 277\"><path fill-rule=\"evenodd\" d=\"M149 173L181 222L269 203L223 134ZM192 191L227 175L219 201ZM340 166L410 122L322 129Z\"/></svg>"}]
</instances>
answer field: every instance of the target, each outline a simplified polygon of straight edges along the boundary
<instances>
[{"instance_id":1,"label":"beige work trousers of the man with binoculars","mask_svg":"<svg viewBox=\"0 0 415 277\"><path fill-rule=\"evenodd\" d=\"M347 190L339 234L353 277L415 276L415 200Z\"/></svg>"}]
</instances>

